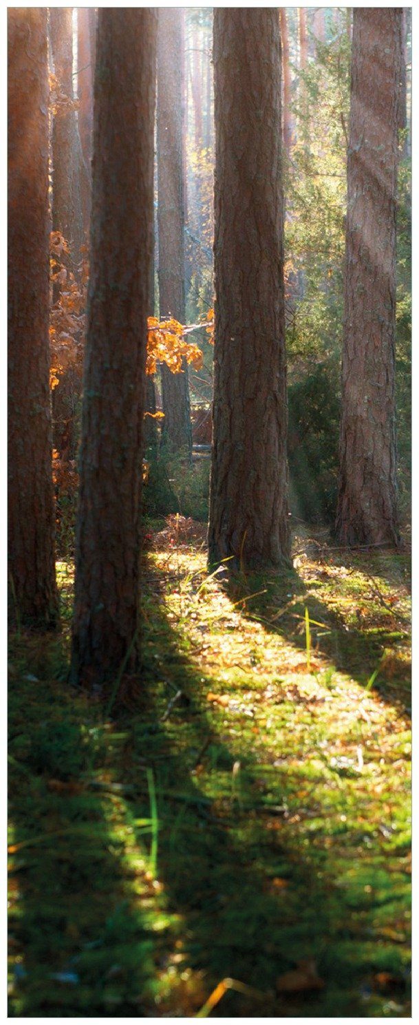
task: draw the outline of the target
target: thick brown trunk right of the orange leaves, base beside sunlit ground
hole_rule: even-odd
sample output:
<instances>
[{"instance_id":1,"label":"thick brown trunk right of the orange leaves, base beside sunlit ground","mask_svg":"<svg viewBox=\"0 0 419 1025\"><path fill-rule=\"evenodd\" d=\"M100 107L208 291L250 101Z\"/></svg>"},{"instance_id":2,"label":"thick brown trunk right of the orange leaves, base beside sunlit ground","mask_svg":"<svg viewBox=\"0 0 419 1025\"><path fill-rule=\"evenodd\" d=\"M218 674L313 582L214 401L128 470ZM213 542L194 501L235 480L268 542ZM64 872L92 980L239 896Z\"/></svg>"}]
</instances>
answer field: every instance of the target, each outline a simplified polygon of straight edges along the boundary
<instances>
[{"instance_id":1,"label":"thick brown trunk right of the orange leaves, base beside sunlit ground","mask_svg":"<svg viewBox=\"0 0 419 1025\"><path fill-rule=\"evenodd\" d=\"M279 566L289 528L278 10L214 9L214 97L209 557Z\"/></svg>"}]
</instances>

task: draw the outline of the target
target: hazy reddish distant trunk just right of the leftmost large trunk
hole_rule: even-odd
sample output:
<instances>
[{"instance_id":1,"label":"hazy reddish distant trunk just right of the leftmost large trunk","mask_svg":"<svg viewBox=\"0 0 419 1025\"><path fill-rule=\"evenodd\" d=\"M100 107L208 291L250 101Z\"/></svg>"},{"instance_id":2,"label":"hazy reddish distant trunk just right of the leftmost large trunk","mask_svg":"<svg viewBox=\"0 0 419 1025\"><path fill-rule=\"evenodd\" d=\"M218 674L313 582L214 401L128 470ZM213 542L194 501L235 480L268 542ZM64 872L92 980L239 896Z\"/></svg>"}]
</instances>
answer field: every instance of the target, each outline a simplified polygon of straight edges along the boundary
<instances>
[{"instance_id":1,"label":"hazy reddish distant trunk just right of the leftmost large trunk","mask_svg":"<svg viewBox=\"0 0 419 1025\"><path fill-rule=\"evenodd\" d=\"M70 270L80 261L83 216L80 190L80 139L73 102L73 7L49 8L54 74L61 93L52 121L52 229L71 245Z\"/></svg>"}]
</instances>

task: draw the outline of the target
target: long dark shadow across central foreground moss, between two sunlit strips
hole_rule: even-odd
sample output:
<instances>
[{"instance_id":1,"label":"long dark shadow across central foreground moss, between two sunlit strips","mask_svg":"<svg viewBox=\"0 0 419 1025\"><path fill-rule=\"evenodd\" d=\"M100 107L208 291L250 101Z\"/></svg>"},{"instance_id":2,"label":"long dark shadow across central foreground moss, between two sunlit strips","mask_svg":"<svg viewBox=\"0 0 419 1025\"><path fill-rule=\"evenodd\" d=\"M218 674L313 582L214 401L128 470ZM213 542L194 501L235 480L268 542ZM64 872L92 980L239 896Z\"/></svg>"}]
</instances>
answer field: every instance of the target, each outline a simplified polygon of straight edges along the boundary
<instances>
[{"instance_id":1,"label":"long dark shadow across central foreground moss, between two sunlit strips","mask_svg":"<svg viewBox=\"0 0 419 1025\"><path fill-rule=\"evenodd\" d=\"M164 652L158 671L156 651ZM266 793L251 746L243 742L238 749L236 742L232 749L226 727L218 731L205 696L199 697L199 668L156 601L146 610L142 674L150 699L144 697L142 716L153 743L148 746L141 721L137 743L156 777L158 876L169 908L182 919L184 963L203 972L207 993L229 976L262 994L258 1000L231 992L214 1015L362 1017L366 960L359 955L359 927L336 895L328 858L320 849L299 847L298 839L284 846L276 828L295 780L279 768ZM234 782L239 763L240 794ZM310 958L324 988L276 994L279 976Z\"/></svg>"}]
</instances>

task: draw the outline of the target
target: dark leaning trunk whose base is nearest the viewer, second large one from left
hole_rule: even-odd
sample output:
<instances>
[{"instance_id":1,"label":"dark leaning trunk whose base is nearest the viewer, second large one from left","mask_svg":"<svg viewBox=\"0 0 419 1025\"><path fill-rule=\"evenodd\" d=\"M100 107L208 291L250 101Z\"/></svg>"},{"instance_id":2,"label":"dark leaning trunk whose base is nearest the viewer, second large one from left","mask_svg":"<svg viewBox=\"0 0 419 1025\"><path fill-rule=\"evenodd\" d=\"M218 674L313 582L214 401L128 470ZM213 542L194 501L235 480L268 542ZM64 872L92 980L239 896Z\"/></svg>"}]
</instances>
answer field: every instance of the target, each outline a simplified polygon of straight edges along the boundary
<instances>
[{"instance_id":1,"label":"dark leaning trunk whose base is nearest the viewer, second large one from left","mask_svg":"<svg viewBox=\"0 0 419 1025\"><path fill-rule=\"evenodd\" d=\"M137 665L156 14L100 8L72 678Z\"/></svg>"}]
</instances>

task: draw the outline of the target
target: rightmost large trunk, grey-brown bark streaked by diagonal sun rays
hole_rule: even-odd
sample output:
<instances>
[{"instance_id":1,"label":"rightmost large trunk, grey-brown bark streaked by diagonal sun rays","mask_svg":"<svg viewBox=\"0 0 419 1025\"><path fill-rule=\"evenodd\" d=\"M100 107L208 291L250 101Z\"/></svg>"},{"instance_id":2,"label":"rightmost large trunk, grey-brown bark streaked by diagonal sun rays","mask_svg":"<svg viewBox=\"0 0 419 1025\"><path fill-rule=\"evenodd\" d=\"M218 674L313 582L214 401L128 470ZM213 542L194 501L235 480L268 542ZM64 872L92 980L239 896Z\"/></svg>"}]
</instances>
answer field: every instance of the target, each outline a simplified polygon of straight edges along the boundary
<instances>
[{"instance_id":1,"label":"rightmost large trunk, grey-brown bark streaked by diagonal sun rays","mask_svg":"<svg viewBox=\"0 0 419 1025\"><path fill-rule=\"evenodd\" d=\"M401 9L353 10L337 537L399 541L394 428Z\"/></svg>"}]
</instances>

